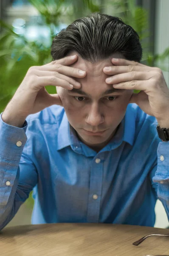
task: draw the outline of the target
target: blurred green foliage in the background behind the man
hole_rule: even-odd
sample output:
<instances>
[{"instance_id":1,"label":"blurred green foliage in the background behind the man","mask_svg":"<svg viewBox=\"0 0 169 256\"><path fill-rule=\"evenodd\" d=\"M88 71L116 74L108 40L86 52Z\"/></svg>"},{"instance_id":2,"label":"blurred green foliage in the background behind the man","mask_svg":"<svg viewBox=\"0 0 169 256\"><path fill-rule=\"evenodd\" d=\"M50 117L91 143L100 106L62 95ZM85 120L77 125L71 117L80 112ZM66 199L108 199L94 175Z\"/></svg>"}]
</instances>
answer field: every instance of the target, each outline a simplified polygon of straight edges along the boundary
<instances>
[{"instance_id":1,"label":"blurred green foliage in the background behind the man","mask_svg":"<svg viewBox=\"0 0 169 256\"><path fill-rule=\"evenodd\" d=\"M143 59L141 62L153 66L157 60L165 60L169 56L169 48L163 54L153 55L149 52L146 43L148 38L148 17L149 13L135 6L135 0L29 0L43 23L50 29L50 43L56 33L56 28L62 24L67 25L73 20L84 17L91 12L106 13L112 16L121 17L122 20L132 26L140 36L143 47ZM51 49L38 41L30 42L23 35L13 31L11 24L0 20L3 32L0 35L0 113L14 95L17 87L23 80L27 70L31 66L40 66L52 61ZM165 67L162 70L168 71ZM56 93L55 87L48 86L49 93ZM136 91L135 92L139 92ZM33 207L34 200L32 192L26 201L28 207Z\"/></svg>"}]
</instances>

